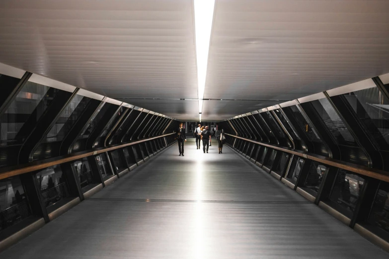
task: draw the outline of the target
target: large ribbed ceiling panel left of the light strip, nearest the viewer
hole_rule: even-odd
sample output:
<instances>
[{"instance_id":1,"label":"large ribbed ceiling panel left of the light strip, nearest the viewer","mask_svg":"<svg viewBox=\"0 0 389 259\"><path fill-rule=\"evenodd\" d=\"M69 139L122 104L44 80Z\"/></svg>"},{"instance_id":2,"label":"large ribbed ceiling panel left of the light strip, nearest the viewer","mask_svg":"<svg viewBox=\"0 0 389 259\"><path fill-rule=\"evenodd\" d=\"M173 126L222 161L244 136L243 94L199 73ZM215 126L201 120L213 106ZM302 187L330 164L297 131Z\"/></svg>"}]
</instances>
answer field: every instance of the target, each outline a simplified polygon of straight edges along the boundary
<instances>
[{"instance_id":1,"label":"large ribbed ceiling panel left of the light strip, nearest the viewer","mask_svg":"<svg viewBox=\"0 0 389 259\"><path fill-rule=\"evenodd\" d=\"M111 98L197 98L193 26L191 0L1 0L0 63Z\"/></svg>"}]
</instances>

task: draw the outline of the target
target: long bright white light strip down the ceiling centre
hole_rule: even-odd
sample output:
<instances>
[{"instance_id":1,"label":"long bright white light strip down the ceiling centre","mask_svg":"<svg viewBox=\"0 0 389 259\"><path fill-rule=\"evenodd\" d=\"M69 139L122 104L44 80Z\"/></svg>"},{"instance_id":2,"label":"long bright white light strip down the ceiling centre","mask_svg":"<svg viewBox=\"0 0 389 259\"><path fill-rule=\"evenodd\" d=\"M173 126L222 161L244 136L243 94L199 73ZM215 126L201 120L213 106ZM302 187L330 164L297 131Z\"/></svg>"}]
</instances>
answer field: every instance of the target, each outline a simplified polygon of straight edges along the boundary
<instances>
[{"instance_id":1,"label":"long bright white light strip down the ceiling centre","mask_svg":"<svg viewBox=\"0 0 389 259\"><path fill-rule=\"evenodd\" d=\"M202 99L204 99L214 8L215 0L194 0L199 113L203 110Z\"/></svg>"}]
</instances>

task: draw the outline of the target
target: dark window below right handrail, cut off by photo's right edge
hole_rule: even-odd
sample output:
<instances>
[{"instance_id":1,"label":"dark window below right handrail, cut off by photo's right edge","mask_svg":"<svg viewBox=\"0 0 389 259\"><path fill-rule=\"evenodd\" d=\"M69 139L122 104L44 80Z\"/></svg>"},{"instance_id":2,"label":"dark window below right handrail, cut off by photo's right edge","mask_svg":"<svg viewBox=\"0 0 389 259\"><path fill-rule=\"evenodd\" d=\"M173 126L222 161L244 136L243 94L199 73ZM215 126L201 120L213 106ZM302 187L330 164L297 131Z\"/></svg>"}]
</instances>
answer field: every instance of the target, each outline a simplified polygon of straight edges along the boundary
<instances>
[{"instance_id":1,"label":"dark window below right handrail, cut off by photo's right edge","mask_svg":"<svg viewBox=\"0 0 389 259\"><path fill-rule=\"evenodd\" d=\"M381 182L369 216L369 223L389 232L389 183Z\"/></svg>"}]
</instances>

